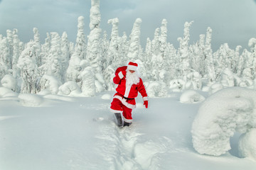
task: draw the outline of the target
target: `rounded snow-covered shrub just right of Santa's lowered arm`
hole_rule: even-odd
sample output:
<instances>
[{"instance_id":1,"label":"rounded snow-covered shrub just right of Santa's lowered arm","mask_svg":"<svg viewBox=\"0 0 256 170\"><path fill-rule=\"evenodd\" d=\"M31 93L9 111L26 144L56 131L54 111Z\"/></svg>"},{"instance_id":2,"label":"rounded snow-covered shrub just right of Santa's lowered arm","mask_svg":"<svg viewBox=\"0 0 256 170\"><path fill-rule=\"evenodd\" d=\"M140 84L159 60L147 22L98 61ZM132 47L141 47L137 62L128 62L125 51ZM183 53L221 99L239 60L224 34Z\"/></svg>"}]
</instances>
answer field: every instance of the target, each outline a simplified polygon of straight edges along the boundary
<instances>
[{"instance_id":1,"label":"rounded snow-covered shrub just right of Santa's lowered arm","mask_svg":"<svg viewBox=\"0 0 256 170\"><path fill-rule=\"evenodd\" d=\"M150 81L146 86L146 93L149 97L167 96L166 84L162 81Z\"/></svg>"}]
</instances>

